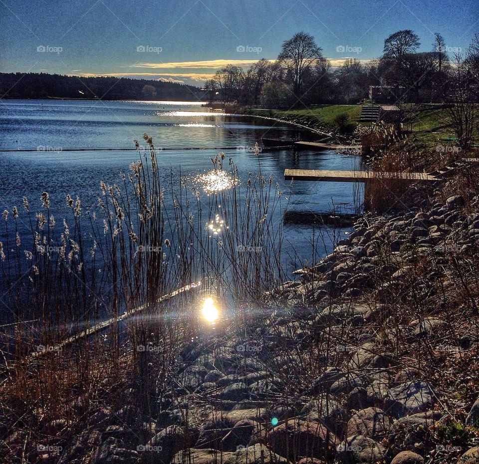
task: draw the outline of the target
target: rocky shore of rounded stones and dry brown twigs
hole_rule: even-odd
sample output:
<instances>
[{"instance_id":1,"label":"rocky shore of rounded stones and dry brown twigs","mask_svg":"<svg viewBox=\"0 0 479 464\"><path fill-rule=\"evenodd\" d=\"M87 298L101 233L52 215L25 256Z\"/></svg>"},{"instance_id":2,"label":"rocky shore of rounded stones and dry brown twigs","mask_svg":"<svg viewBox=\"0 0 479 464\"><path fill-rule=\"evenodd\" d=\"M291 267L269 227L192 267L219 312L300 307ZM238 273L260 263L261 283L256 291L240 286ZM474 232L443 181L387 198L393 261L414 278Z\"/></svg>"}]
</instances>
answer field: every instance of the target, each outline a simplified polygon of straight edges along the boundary
<instances>
[{"instance_id":1,"label":"rocky shore of rounded stones and dry brown twigs","mask_svg":"<svg viewBox=\"0 0 479 464\"><path fill-rule=\"evenodd\" d=\"M169 364L150 350L171 375L148 413L126 384L67 440L67 421L45 424L36 462L478 464L479 199L465 203L361 219L241 330L205 329Z\"/></svg>"}]
</instances>

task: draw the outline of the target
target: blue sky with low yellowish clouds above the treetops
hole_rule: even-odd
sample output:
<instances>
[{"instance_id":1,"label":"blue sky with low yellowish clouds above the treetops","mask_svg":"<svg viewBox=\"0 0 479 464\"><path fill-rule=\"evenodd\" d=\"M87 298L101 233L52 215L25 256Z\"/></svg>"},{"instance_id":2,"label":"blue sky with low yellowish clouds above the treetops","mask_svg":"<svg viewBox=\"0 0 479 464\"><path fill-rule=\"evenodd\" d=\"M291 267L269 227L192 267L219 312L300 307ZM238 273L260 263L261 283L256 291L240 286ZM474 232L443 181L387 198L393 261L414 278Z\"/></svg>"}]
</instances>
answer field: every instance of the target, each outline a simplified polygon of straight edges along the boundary
<instances>
[{"instance_id":1,"label":"blue sky with low yellowish clouds above the treetops","mask_svg":"<svg viewBox=\"0 0 479 464\"><path fill-rule=\"evenodd\" d=\"M0 0L0 72L159 79L201 86L232 63L274 59L298 31L333 65L367 61L413 29L465 52L478 0Z\"/></svg>"}]
</instances>

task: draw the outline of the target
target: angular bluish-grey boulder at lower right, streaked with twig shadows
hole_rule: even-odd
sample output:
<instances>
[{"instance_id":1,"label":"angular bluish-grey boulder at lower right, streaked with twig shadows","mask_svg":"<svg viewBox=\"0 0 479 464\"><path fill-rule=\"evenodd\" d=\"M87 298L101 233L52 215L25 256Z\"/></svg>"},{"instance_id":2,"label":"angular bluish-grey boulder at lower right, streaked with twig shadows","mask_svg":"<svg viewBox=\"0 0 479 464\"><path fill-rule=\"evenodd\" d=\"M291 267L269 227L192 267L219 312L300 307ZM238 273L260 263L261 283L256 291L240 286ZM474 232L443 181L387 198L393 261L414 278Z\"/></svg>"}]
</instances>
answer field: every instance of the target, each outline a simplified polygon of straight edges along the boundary
<instances>
[{"instance_id":1,"label":"angular bluish-grey boulder at lower right, streaked with twig shadows","mask_svg":"<svg viewBox=\"0 0 479 464\"><path fill-rule=\"evenodd\" d=\"M389 390L386 408L402 417L431 409L433 402L433 392L426 381L407 382Z\"/></svg>"}]
</instances>

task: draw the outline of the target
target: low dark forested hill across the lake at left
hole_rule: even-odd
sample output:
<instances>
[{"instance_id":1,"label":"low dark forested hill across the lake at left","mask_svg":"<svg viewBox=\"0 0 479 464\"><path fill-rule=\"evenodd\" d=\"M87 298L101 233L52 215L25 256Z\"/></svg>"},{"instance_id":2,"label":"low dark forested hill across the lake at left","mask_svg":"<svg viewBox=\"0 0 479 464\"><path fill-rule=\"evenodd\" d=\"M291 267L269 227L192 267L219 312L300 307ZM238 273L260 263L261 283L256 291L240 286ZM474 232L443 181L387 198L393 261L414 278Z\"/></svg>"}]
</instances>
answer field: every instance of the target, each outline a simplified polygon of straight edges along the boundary
<instances>
[{"instance_id":1,"label":"low dark forested hill across the lake at left","mask_svg":"<svg viewBox=\"0 0 479 464\"><path fill-rule=\"evenodd\" d=\"M103 100L195 100L192 85L118 77L76 77L46 73L0 73L2 98L82 98Z\"/></svg>"}]
</instances>

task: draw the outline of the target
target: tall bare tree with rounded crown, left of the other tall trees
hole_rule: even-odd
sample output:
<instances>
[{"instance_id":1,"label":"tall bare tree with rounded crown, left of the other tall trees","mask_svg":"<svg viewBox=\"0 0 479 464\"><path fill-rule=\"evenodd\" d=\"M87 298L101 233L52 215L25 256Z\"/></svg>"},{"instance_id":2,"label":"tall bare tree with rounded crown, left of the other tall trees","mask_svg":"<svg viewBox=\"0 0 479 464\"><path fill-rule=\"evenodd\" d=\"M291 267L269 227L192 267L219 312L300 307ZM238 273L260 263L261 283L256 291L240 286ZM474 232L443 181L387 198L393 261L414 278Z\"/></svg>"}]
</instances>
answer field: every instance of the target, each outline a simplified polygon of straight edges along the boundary
<instances>
[{"instance_id":1,"label":"tall bare tree with rounded crown, left of the other tall trees","mask_svg":"<svg viewBox=\"0 0 479 464\"><path fill-rule=\"evenodd\" d=\"M298 32L283 42L278 60L291 75L296 96L300 95L305 72L322 58L321 50L314 37L306 32Z\"/></svg>"}]
</instances>

